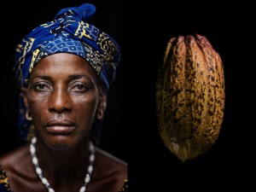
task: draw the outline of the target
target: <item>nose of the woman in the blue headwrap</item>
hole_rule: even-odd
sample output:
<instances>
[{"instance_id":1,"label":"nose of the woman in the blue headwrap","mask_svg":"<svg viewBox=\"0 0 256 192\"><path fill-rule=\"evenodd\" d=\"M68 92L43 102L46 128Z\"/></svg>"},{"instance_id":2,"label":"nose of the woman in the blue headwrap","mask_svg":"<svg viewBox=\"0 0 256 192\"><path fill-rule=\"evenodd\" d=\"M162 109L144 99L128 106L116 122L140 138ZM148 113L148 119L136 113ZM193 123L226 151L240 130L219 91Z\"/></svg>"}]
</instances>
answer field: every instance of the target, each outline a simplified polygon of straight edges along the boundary
<instances>
[{"instance_id":1,"label":"nose of the woman in the blue headwrap","mask_svg":"<svg viewBox=\"0 0 256 192\"><path fill-rule=\"evenodd\" d=\"M57 86L49 96L49 112L71 112L72 99L64 86Z\"/></svg>"}]
</instances>

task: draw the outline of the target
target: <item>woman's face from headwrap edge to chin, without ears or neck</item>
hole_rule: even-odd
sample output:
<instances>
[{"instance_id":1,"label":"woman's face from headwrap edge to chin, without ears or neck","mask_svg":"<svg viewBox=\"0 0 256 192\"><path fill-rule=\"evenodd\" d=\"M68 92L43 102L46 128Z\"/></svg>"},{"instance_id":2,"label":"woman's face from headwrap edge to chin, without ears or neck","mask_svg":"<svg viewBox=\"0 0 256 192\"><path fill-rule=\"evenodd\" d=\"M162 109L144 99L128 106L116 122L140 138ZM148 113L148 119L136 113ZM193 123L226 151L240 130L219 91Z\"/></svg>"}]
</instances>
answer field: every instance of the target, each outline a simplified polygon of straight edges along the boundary
<instances>
[{"instance_id":1,"label":"woman's face from headwrap edge to chin, without ears or neck","mask_svg":"<svg viewBox=\"0 0 256 192\"><path fill-rule=\"evenodd\" d=\"M38 62L25 96L37 137L56 149L73 148L89 137L102 102L90 64L67 53Z\"/></svg>"}]
</instances>

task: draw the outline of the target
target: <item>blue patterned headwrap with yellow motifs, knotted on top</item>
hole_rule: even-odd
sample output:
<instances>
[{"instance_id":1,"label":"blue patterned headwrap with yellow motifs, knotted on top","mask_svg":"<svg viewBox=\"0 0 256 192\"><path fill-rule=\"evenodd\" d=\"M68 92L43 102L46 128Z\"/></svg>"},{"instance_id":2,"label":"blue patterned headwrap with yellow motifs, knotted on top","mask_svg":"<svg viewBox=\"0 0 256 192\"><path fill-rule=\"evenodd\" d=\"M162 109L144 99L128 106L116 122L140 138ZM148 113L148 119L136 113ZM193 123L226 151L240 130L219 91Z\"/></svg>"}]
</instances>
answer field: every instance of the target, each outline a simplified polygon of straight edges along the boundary
<instances>
[{"instance_id":1,"label":"blue patterned headwrap with yellow motifs, knotted on top","mask_svg":"<svg viewBox=\"0 0 256 192\"><path fill-rule=\"evenodd\" d=\"M89 61L103 87L108 90L120 61L119 45L107 33L88 20L96 7L84 3L79 7L61 9L55 19L38 26L22 39L16 48L15 76L20 87L27 87L33 67L47 55L72 53ZM27 136L31 125L25 118L26 109L20 98L19 126Z\"/></svg>"}]
</instances>

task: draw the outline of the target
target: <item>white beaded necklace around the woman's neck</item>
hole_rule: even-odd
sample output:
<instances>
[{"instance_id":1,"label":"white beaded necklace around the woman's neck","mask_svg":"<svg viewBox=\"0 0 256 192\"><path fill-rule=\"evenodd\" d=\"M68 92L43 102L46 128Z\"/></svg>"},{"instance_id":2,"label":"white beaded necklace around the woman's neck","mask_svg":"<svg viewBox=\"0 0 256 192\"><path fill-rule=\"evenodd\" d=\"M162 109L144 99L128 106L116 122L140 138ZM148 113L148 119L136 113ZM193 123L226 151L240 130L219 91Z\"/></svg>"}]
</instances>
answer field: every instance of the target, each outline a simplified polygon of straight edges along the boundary
<instances>
[{"instance_id":1,"label":"white beaded necklace around the woman's neck","mask_svg":"<svg viewBox=\"0 0 256 192\"><path fill-rule=\"evenodd\" d=\"M33 137L30 143L30 153L32 155L32 163L35 166L38 177L40 177L44 186L48 189L49 192L55 192L55 190L50 187L47 178L44 177L42 169L38 165L38 157L36 154L36 143L37 143L37 138ZM95 148L91 142L89 145L89 151L90 151L89 166L87 168L87 174L84 178L84 185L80 188L79 192L84 192L87 189L87 185L90 182L91 173L93 171L93 162L95 160L95 155L94 155Z\"/></svg>"}]
</instances>

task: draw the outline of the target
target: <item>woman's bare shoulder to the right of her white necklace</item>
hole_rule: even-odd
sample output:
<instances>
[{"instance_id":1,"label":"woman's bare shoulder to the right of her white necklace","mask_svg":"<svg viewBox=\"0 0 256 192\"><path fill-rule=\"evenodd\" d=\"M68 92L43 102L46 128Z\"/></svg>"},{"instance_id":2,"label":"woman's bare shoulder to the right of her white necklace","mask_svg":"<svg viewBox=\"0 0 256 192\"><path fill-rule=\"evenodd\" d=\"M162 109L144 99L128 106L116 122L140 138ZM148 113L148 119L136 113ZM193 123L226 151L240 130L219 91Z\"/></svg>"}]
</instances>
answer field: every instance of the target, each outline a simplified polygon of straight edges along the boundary
<instances>
[{"instance_id":1,"label":"woman's bare shoulder to the right of her white necklace","mask_svg":"<svg viewBox=\"0 0 256 192\"><path fill-rule=\"evenodd\" d=\"M97 186L102 186L102 189L109 189L109 191L119 191L124 186L127 179L127 162L124 160L101 148L96 148L94 168L95 179L102 181L102 184Z\"/></svg>"}]
</instances>

